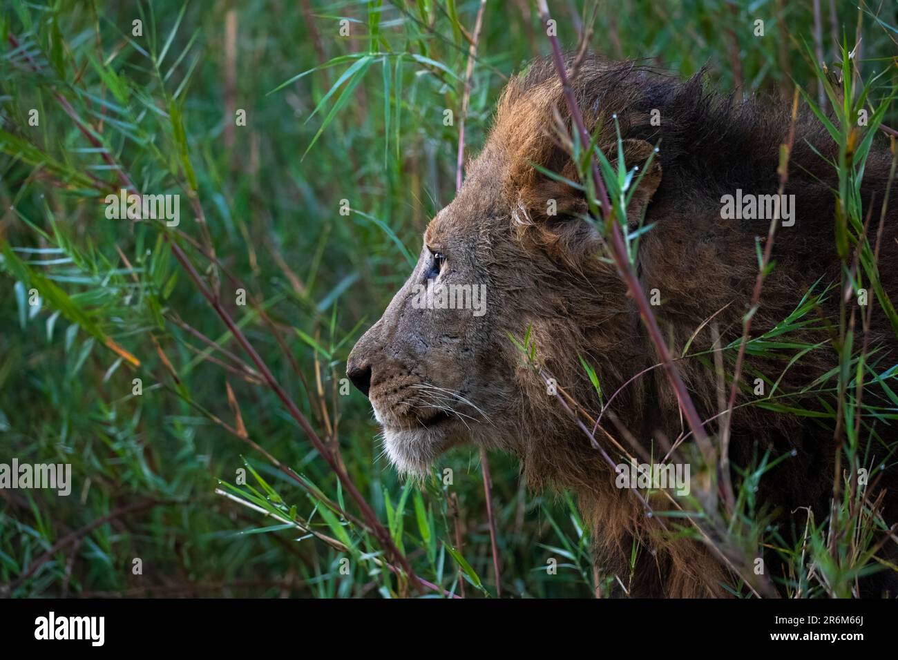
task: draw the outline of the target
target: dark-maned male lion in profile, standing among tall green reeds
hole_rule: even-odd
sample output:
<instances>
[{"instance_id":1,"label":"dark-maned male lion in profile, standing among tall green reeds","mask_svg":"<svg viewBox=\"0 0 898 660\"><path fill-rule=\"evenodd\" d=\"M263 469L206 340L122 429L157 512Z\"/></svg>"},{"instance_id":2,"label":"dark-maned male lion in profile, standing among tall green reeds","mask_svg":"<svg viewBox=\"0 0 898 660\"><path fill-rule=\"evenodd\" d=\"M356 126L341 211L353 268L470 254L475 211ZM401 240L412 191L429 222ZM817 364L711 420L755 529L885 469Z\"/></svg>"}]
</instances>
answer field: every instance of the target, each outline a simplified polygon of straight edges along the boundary
<instances>
[{"instance_id":1,"label":"dark-maned male lion in profile, standing among tall green reeds","mask_svg":"<svg viewBox=\"0 0 898 660\"><path fill-rule=\"evenodd\" d=\"M820 410L821 395L807 390L827 374L832 384L843 295L833 229L838 146L810 112L799 112L793 127L791 104L721 96L706 89L701 74L683 81L593 56L576 70L568 57L567 66L586 127L600 135L597 148L612 165L623 154L624 169L640 172L626 220L633 232L641 227L638 280L656 295L652 311L674 356L682 356L676 366L715 442L728 392L715 358L726 353L732 367L735 351L719 348L738 346L770 224L758 217L763 213L733 217L724 200L779 194L780 145L794 128L783 190L792 204L784 201L752 337L773 332L815 348L795 364L788 363L795 351L749 351L728 444L734 483L738 471L762 459L775 464L762 476L758 506L794 538L807 516L819 524L829 515L841 450L832 419L753 405L753 388L775 384L790 409ZM658 354L638 306L586 216L563 137L570 131L554 66L534 61L502 92L462 189L427 225L416 268L352 349L348 378L371 401L386 454L402 473L426 475L442 453L473 444L514 453L531 488L573 491L592 532L596 568L617 578L612 595L734 594L744 574L732 560L709 539L658 532L644 503L615 484L612 463L626 463L628 452L658 462L686 436L674 455L692 461L697 453L665 369L655 368ZM882 288L894 294L898 214L883 212L892 156L878 136L874 144L860 197L872 217L871 244L878 234ZM485 292L480 314L465 309L476 291ZM867 348L882 373L894 365L898 341L870 295L876 308ZM780 335L784 320L808 301L806 314ZM855 310L858 332L866 311ZM865 397L876 398L872 387ZM871 469L869 488L885 492L883 510L894 520L894 427L884 421L877 429L885 441L863 464ZM891 549L880 554L893 557L894 541L887 542ZM774 564L769 574L781 578L782 570ZM898 593L894 572L877 575L864 594Z\"/></svg>"}]
</instances>

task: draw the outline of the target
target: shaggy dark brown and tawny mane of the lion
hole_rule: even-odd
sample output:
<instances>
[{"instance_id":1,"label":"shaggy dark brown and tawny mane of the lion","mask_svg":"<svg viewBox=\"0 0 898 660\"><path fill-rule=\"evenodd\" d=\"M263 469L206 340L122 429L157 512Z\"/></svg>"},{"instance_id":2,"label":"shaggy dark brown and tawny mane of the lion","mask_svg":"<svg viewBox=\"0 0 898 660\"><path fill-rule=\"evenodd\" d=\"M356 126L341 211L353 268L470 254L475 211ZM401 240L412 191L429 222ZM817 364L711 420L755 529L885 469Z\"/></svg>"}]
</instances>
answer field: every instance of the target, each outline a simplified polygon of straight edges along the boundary
<instances>
[{"instance_id":1,"label":"shaggy dark brown and tawny mane of the lion","mask_svg":"<svg viewBox=\"0 0 898 660\"><path fill-rule=\"evenodd\" d=\"M682 82L646 66L609 64L595 58L580 66L572 87L587 127L594 131L603 126L600 145L604 149L616 144L615 119L625 141L646 141L659 147L656 156L661 180L646 216L646 224L655 226L642 240L638 272L645 290L657 289L662 296L656 316L674 355L682 353L702 321L712 316L724 345L739 339L757 273L755 237L766 236L768 221L724 220L720 198L735 194L736 189L753 194L777 192L779 146L787 140L791 108L775 99L742 101L734 95L709 92L702 75ZM653 110L660 112L660 126L652 125ZM584 212L582 196L533 167L535 163L570 180L577 179L567 149L561 144L559 125L569 135L568 110L556 71L550 60L534 62L507 85L498 103L495 127L480 158L471 163L465 188L470 187L471 194L500 182L512 221L508 240L524 247L525 268L531 273L527 286L515 282L514 290L503 300L508 309L503 313L516 317L518 328L525 327L527 321L533 324L537 353L546 371L595 417L600 403L577 356L594 365L606 396L657 359L620 278L612 267L597 259L601 246L593 230L571 217ZM612 152L616 154L614 149L609 154ZM626 158L629 167L630 155ZM780 227L777 233L773 251L776 268L765 281L761 308L753 321L753 337L788 318L809 291L821 295L827 286L839 282L833 229L833 189L838 182L832 163L827 162L836 158L836 145L820 122L810 112L800 113L785 189L787 195L796 196L796 223ZM871 242L885 198L890 163L885 141L876 138L862 189L865 212L874 218ZM547 215L545 202L549 198L558 201L559 217ZM896 208L894 204L892 207ZM889 210L879 256L885 291L893 295L898 293L896 221L895 211ZM501 246L493 250L501 251ZM871 304L878 305L872 301L871 295ZM839 319L836 290L822 296L817 313L823 321L812 312L814 322L788 336L820 342L821 348L803 356L791 368L788 359L793 352L783 352L781 358L773 360L749 355L744 381L751 384L756 374L762 374L769 389L782 374L778 392L792 395L785 401L796 408L820 409L815 395L799 396L797 392L837 365L831 343L837 338ZM691 354L713 348L710 326L692 339ZM894 364L898 354L895 332L879 308L873 312L869 341L870 348L878 351L878 370ZM731 374L732 361L726 364L726 373ZM714 416L721 408L713 357L687 358L679 366L702 418ZM523 439L514 451L521 455L524 476L536 488L555 485L577 491L594 530L600 566L611 569L621 580L632 573L628 590L633 595L726 594L724 585L733 584L733 576L724 562L695 541L661 538L637 498L614 488L609 466L559 409L558 401L545 396L544 383L523 367L517 378L524 392L518 410ZM865 402L876 398L872 390L865 392ZM751 395L740 395L736 405L751 399ZM643 457L666 453L683 431L674 392L663 369L649 371L627 384L603 419L612 436L620 438L629 451L634 445L641 447ZM791 540L804 530L807 509L800 507L810 507L817 523L829 514L828 497L832 495L838 452L829 424L748 405L736 409L732 426L733 465L748 467L764 453L769 453L769 461L787 456L764 476L759 493L759 506L774 516L784 537ZM709 425L709 431L717 431L715 423ZM894 430L879 427L878 432L894 438ZM603 442L601 433L598 437ZM690 461L690 445L682 445L676 460ZM613 445L605 448L615 462L621 460L621 452ZM898 506L894 497L894 446L877 446L874 452L875 456L867 457L867 466L888 465L885 473L878 473L876 487L888 489L885 515L894 521ZM738 479L735 473L733 478ZM701 475L696 481L700 480ZM661 500L653 504L664 507ZM638 560L631 570L629 559L634 548L638 549ZM775 563L770 566L774 578L782 577L776 572L782 567ZM876 591L886 583L870 584ZM894 593L894 585L892 589Z\"/></svg>"}]
</instances>

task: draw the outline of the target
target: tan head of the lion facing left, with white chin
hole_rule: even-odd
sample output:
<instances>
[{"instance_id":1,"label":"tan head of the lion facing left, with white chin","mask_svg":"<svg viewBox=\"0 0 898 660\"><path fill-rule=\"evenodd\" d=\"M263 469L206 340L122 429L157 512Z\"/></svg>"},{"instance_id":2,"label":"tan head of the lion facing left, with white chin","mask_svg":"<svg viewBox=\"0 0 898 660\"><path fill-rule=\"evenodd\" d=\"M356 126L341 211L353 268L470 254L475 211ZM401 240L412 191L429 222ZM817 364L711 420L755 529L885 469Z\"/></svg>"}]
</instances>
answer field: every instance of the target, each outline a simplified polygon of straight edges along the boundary
<instances>
[{"instance_id":1,"label":"tan head of the lion facing left, with white chin","mask_svg":"<svg viewBox=\"0 0 898 660\"><path fill-rule=\"evenodd\" d=\"M597 83L613 75L593 66ZM423 474L440 453L471 442L524 457L534 422L541 451L548 451L559 410L546 379L588 384L578 356L592 355L600 335L606 344L623 339L603 330L632 310L613 268L595 258L599 237L582 217L582 194L534 168L576 179L551 129L563 121L560 94L547 63L506 87L462 189L428 224L417 266L349 356L347 374L371 400L386 453L400 471ZM613 102L621 105L621 94ZM624 145L633 167L654 149L642 139ZM615 154L616 143L609 151ZM634 218L660 172L656 163L643 177L630 203ZM541 347L542 373L524 359L524 335ZM594 399L594 392L585 396ZM557 423L567 427L569 420L562 415Z\"/></svg>"}]
</instances>

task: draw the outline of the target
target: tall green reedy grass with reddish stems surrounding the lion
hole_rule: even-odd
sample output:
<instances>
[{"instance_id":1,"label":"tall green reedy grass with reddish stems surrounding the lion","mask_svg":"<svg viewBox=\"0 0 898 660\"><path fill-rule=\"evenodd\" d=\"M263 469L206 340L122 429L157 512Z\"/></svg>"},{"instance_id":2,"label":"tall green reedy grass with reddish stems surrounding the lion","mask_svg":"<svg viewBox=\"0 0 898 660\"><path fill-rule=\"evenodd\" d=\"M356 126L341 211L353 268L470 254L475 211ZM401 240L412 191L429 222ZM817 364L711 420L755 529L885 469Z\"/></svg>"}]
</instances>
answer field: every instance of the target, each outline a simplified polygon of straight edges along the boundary
<instances>
[{"instance_id":1,"label":"tall green reedy grass with reddish stems surrounding the lion","mask_svg":"<svg viewBox=\"0 0 898 660\"><path fill-rule=\"evenodd\" d=\"M562 45L577 44L592 5L551 8ZM817 39L806 3L607 5L591 23L605 55L682 76L707 67L709 84L784 102L800 87L845 146L841 286L867 282L885 300L857 194L869 142L847 145L861 108L863 136L898 124L894 12L836 3L835 39L828 23ZM0 585L15 596L497 595L480 454L450 453L420 488L401 482L367 401L340 382L453 197L462 108L476 153L507 77L550 52L535 4L488 3L469 87L479 11L451 0L2 10L0 462L71 463L74 488L0 491ZM843 61L857 75L838 91L829 73ZM603 183L622 181L596 164ZM120 189L180 195L180 224L110 220L103 201ZM800 359L811 348L781 335L812 310L803 301L744 351ZM858 411L896 413L852 392L866 374L898 407L894 367L858 350L847 321L837 336L840 370L809 389L829 392L821 409L839 406L826 414L844 422L845 460L863 465L876 434ZM788 400L771 392L763 405ZM526 492L510 457L490 454L489 467L504 595L611 584L593 573L570 496ZM788 547L751 497L768 468L759 457L735 484L729 515L712 521L721 543L746 559L779 547L794 595L850 594L871 568L875 516L844 488L838 515Z\"/></svg>"}]
</instances>

